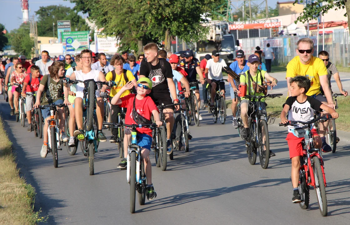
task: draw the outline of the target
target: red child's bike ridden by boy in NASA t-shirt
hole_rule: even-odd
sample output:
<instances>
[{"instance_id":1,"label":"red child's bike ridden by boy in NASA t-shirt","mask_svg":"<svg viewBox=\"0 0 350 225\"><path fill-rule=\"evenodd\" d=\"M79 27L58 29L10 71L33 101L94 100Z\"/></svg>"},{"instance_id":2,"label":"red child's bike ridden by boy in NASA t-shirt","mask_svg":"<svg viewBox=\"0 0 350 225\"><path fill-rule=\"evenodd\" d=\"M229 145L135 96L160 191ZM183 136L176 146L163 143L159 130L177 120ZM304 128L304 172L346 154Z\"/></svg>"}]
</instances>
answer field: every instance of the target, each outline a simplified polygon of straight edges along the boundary
<instances>
[{"instance_id":1,"label":"red child's bike ridden by boy in NASA t-shirt","mask_svg":"<svg viewBox=\"0 0 350 225\"><path fill-rule=\"evenodd\" d=\"M306 125L295 129L299 134L304 134L302 145L303 150L306 152L306 154L300 159L299 192L301 202L299 205L302 209L307 209L309 207L309 188L312 186L316 191L318 208L320 208L322 216L327 216L327 196L325 191L327 183L324 176L322 151L321 149L315 148L311 129L314 127L315 122L319 120L326 121L331 118L331 116L324 116L318 117L309 122L289 121L287 124L280 124L280 126L293 126L298 123Z\"/></svg>"}]
</instances>

